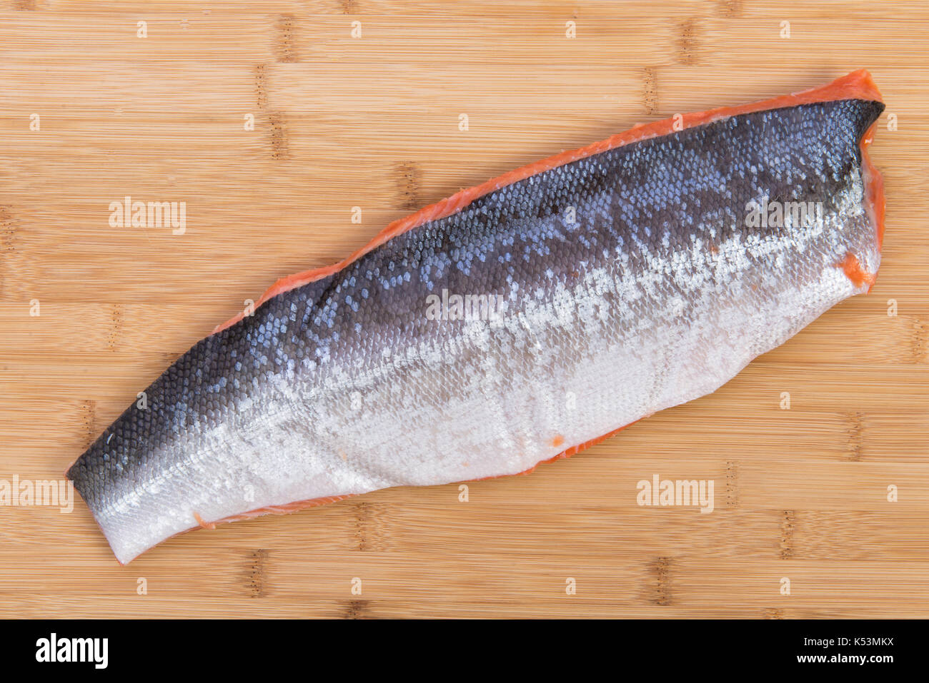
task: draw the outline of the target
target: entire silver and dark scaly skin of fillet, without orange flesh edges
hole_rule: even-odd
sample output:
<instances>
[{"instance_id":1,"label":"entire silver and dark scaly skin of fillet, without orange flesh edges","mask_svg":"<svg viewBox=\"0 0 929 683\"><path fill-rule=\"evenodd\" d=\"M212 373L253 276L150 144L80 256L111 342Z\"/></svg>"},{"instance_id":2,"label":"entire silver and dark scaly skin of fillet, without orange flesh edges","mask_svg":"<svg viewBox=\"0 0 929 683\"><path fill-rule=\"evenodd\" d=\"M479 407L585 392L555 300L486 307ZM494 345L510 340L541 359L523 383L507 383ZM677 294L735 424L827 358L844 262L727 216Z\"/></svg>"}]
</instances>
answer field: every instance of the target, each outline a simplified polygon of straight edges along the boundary
<instances>
[{"instance_id":1,"label":"entire silver and dark scaly skin of fillet, without orange flesh edges","mask_svg":"<svg viewBox=\"0 0 929 683\"><path fill-rule=\"evenodd\" d=\"M711 393L868 290L841 264L880 264L882 110L727 116L495 189L195 344L68 477L125 563L198 520L530 470ZM746 226L765 197L822 220ZM430 319L442 290L505 307Z\"/></svg>"}]
</instances>

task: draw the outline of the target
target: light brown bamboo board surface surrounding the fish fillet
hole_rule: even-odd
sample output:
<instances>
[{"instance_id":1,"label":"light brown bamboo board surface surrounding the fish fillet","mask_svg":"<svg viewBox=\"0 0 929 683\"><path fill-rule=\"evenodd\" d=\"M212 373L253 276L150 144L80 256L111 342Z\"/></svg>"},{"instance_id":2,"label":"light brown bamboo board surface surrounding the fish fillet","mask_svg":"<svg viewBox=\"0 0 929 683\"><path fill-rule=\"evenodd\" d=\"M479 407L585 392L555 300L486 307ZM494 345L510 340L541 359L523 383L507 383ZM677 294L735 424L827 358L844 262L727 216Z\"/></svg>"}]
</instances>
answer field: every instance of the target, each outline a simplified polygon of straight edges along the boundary
<instances>
[{"instance_id":1,"label":"light brown bamboo board surface surrounding the fish fillet","mask_svg":"<svg viewBox=\"0 0 929 683\"><path fill-rule=\"evenodd\" d=\"M0 507L0 614L929 616L927 55L925 6L870 0L4 2L0 479L59 478L276 278L637 122L868 68L887 229L869 296L466 502L391 489L126 567L81 500ZM126 196L186 202L183 234L111 226ZM713 512L639 506L654 475Z\"/></svg>"}]
</instances>

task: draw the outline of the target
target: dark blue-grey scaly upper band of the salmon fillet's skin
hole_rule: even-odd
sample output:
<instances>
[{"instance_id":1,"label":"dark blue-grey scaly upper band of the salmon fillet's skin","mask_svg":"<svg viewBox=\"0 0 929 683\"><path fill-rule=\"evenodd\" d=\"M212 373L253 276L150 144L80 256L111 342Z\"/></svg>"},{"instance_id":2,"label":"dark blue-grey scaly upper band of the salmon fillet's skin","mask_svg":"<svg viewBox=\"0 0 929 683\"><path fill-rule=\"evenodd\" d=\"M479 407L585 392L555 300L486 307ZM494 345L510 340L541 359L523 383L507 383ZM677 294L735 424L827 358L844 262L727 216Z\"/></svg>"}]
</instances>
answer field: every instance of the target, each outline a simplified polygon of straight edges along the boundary
<instances>
[{"instance_id":1,"label":"dark blue-grey scaly upper band of the salmon fillet's skin","mask_svg":"<svg viewBox=\"0 0 929 683\"><path fill-rule=\"evenodd\" d=\"M556 283L576 281L620 251L647 268L656 255L690 249L695 234L709 245L737 233L783 230L743 225L746 202L765 193L770 200L821 201L828 213L860 167L859 140L882 110L881 103L850 99L741 114L491 192L195 344L146 390L148 408L130 406L68 476L98 513L171 465L160 454L179 433L229 419L237 399L273 375L360 372L381 363L385 347L400 351L422 338L461 343L456 323L426 318L430 292L499 293L515 314L524 297L544 302ZM726 293L725 283L705 287ZM659 309L662 293L650 295ZM501 348L507 343L501 339ZM566 362L570 354L568 344ZM307 369L307 359L315 367ZM429 391L440 398L444 390Z\"/></svg>"}]
</instances>

